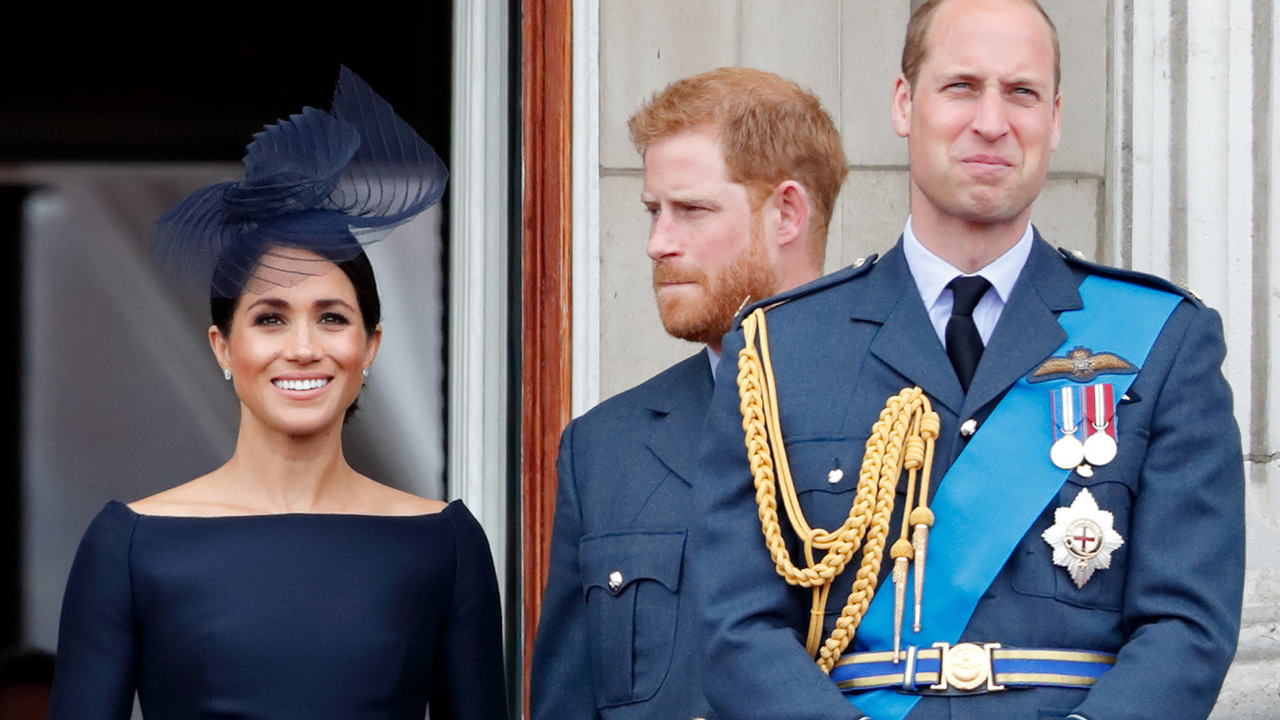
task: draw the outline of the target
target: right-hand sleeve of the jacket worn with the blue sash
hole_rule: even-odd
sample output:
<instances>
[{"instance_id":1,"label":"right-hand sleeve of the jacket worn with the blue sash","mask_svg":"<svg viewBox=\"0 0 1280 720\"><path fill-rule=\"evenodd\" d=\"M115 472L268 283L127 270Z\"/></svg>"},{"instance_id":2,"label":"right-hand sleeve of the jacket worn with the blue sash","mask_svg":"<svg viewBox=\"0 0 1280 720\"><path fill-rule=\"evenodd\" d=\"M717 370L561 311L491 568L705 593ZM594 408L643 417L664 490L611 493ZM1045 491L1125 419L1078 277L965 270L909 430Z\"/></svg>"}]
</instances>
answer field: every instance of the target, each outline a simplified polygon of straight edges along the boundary
<instances>
[{"instance_id":1,"label":"right-hand sleeve of the jacket worn with the blue sash","mask_svg":"<svg viewBox=\"0 0 1280 720\"><path fill-rule=\"evenodd\" d=\"M1132 634L1075 710L1089 720L1204 717L1235 653L1244 477L1222 327L1217 313L1184 302L1164 336L1147 364L1167 372L1158 388L1143 387L1153 407L1126 538Z\"/></svg>"}]
</instances>

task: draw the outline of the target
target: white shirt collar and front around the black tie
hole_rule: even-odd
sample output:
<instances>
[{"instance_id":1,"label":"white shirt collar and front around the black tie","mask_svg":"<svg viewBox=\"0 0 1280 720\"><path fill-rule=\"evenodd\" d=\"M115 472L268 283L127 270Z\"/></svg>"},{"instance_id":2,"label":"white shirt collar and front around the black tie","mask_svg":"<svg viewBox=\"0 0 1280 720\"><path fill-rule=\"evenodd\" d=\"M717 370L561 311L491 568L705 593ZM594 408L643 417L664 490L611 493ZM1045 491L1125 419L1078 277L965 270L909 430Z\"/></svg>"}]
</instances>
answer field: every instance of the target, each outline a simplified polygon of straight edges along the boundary
<instances>
[{"instance_id":1,"label":"white shirt collar and front around the black tie","mask_svg":"<svg viewBox=\"0 0 1280 720\"><path fill-rule=\"evenodd\" d=\"M1018 284L1018 275L1027 264L1027 258L1032 254L1032 241L1036 234L1032 224L1027 223L1027 231L1012 247L1004 255L996 258L986 268L977 273L961 273L951 263L934 255L924 247L915 231L911 229L911 218L906 218L906 229L902 231L902 254L906 255L906 266L915 279L915 288L920 291L920 300L929 311L929 322L933 331L938 333L938 341L946 346L947 320L951 319L951 288L947 287L959 275L982 275L991 283L991 290L982 296L978 306L973 310L973 322L978 325L978 334L982 343L991 341L991 333L996 329L1000 314L1005 311L1014 286Z\"/></svg>"}]
</instances>

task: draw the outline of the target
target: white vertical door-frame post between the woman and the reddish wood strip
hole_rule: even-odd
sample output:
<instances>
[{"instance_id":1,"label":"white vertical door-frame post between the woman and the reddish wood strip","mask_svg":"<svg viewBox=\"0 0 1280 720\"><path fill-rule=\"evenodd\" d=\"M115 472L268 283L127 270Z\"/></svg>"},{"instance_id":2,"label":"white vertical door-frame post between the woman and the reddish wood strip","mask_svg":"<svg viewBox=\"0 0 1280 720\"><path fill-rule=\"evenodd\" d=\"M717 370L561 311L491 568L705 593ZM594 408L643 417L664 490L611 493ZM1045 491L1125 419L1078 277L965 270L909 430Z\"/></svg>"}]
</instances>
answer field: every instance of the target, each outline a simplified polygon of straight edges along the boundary
<instances>
[{"instance_id":1,"label":"white vertical door-frame post between the woman and the reddish wood strip","mask_svg":"<svg viewBox=\"0 0 1280 720\"><path fill-rule=\"evenodd\" d=\"M449 168L448 491L484 527L498 578L508 533L507 6L454 3Z\"/></svg>"}]
</instances>

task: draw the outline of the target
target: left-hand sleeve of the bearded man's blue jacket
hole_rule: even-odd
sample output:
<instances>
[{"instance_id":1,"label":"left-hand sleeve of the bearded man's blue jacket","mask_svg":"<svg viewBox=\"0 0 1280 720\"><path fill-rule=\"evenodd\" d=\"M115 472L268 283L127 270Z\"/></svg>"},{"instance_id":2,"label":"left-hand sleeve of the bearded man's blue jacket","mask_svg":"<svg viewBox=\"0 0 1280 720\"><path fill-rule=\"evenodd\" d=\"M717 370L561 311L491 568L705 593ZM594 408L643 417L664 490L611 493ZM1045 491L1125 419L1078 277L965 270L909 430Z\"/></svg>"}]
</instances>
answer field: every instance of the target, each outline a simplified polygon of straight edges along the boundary
<instances>
[{"instance_id":1,"label":"left-hand sleeve of the bearded man's blue jacket","mask_svg":"<svg viewBox=\"0 0 1280 720\"><path fill-rule=\"evenodd\" d=\"M582 514L573 477L573 430L561 436L556 491L556 527L552 532L550 565L543 596L538 639L534 643L531 703L534 720L579 720L598 717L595 693L582 687L591 678L588 642L588 607L582 592L579 543Z\"/></svg>"}]
</instances>

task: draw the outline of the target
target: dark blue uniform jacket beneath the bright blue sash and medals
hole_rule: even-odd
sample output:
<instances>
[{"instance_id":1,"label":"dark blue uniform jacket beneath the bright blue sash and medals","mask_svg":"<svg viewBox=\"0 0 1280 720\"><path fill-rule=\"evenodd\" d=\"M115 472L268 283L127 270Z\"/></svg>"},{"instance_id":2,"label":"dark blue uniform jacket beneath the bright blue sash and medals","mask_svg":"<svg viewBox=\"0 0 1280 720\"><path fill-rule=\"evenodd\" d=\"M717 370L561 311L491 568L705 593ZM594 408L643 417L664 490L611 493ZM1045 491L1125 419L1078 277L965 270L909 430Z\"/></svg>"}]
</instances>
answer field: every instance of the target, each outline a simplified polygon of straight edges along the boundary
<instances>
[{"instance_id":1,"label":"dark blue uniform jacket beneath the bright blue sash and medals","mask_svg":"<svg viewBox=\"0 0 1280 720\"><path fill-rule=\"evenodd\" d=\"M968 395L929 323L901 245L877 263L771 300L767 320L781 425L808 521L833 529L845 519L872 424L884 401L904 387L922 387L940 415L933 477L942 478L965 447L965 420L977 420L982 432L980 423L1002 395L1066 341L1057 318L1082 307L1078 288L1089 274L1175 291L1156 278L1078 261L1037 237ZM708 415L704 473L695 486L705 518L691 557L710 635L708 666L714 669L705 675L707 697L723 717L859 717L858 697L851 706L804 650L809 591L783 583L762 541L733 377L741 347L740 331L726 338ZM1235 652L1244 569L1243 461L1221 374L1224 354L1217 314L1184 296L1120 401L1119 455L1092 477L1070 474L1057 498L1027 528L961 637L1119 653L1115 666L1092 689L924 697L909 717L1208 715ZM833 468L844 470L837 483L829 482ZM993 466L989 473L1016 482L1019 469ZM1076 587L1053 565L1041 534L1053 524L1055 509L1071 505L1082 488L1114 515L1125 542L1108 569ZM1001 521L998 496L989 500L988 520ZM897 537L896 521L888 537ZM945 571L945 560L936 561L931 556L929 566ZM891 562L886 553L881 592L892 592L886 577ZM846 570L831 592L828 633L852 574L854 568Z\"/></svg>"}]
</instances>

